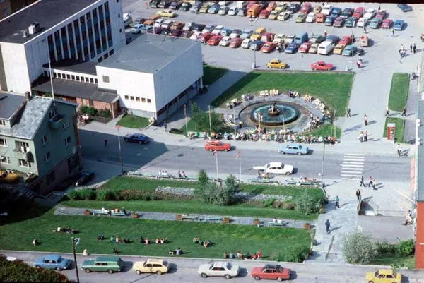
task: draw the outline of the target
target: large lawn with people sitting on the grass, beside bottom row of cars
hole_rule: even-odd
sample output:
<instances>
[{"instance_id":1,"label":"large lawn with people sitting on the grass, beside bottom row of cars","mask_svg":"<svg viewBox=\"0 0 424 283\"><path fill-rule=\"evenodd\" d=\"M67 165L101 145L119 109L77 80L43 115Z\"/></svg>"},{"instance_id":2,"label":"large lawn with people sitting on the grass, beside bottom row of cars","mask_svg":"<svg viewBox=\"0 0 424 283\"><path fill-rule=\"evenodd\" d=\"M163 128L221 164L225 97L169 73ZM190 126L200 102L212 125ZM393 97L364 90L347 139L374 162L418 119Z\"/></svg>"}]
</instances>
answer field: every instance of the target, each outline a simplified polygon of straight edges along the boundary
<instances>
[{"instance_id":1,"label":"large lawn with people sitting on the grass, beside bottom row of cars","mask_svg":"<svg viewBox=\"0 0 424 283\"><path fill-rule=\"evenodd\" d=\"M87 249L88 253L111 254L113 248L128 255L167 256L168 251L182 248L185 257L221 258L223 252L246 253L261 251L264 258L271 259L276 253L295 244L310 246L310 234L305 229L261 228L230 224L207 224L199 222L148 221L142 219L116 219L93 216L53 215L53 210L44 215L34 214L31 207L25 207L25 214L17 209L11 213L8 223L0 227L0 249L17 251L71 252L71 235L55 232L56 227L71 227L80 231L81 242L77 253ZM13 215L18 215L13 217ZM104 234L107 239L98 241ZM110 243L110 236L129 239L132 243ZM153 240L167 238L165 245L144 245L138 242L140 236ZM194 237L210 240L213 246L204 248L192 243ZM40 245L33 246L33 239Z\"/></svg>"}]
</instances>

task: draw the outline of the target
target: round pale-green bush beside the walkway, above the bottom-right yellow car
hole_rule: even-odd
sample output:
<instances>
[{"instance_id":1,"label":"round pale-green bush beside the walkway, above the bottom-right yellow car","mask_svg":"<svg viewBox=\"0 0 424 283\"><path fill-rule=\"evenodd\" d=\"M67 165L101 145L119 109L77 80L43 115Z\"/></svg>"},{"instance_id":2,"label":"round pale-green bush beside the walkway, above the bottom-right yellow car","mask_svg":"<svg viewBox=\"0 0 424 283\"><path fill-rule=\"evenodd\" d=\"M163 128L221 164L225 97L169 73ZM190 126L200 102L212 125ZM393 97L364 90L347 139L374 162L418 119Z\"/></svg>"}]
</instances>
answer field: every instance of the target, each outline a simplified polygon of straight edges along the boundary
<instances>
[{"instance_id":1,"label":"round pale-green bush beside the walkway, above the bottom-right yellow car","mask_svg":"<svg viewBox=\"0 0 424 283\"><path fill-rule=\"evenodd\" d=\"M348 263L368 264L375 259L377 250L371 243L370 236L356 232L347 236L343 241L342 253Z\"/></svg>"}]
</instances>

